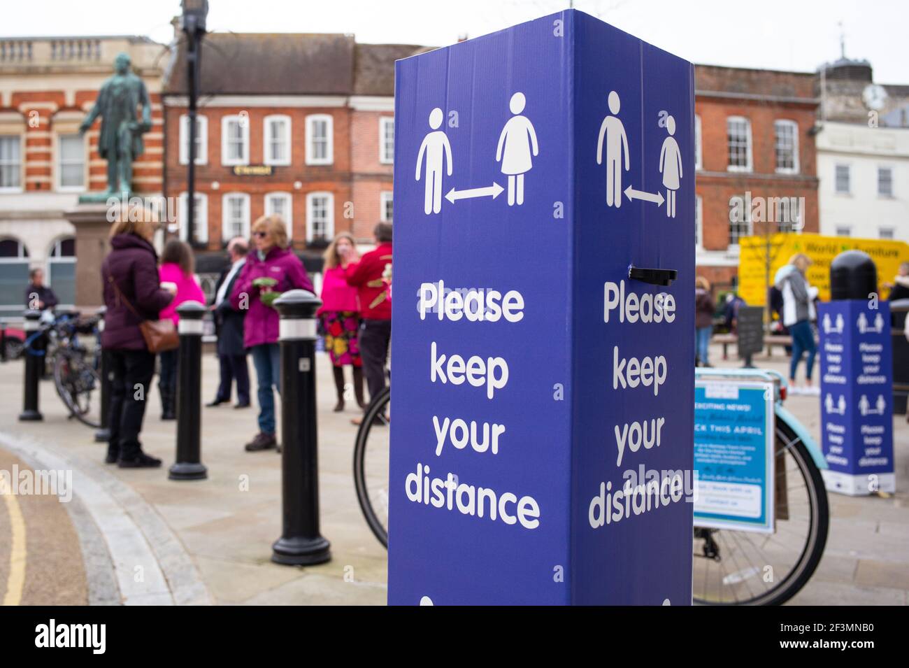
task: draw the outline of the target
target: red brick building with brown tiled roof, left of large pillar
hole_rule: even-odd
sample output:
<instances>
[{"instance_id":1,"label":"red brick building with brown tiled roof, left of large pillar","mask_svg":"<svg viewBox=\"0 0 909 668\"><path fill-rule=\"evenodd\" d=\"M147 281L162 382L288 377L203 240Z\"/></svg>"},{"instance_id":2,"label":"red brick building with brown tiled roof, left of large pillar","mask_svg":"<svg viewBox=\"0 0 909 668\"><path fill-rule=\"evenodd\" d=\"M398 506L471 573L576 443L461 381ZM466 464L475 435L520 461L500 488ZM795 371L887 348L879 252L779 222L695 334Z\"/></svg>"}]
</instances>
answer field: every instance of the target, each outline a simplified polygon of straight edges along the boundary
<instances>
[{"instance_id":1,"label":"red brick building with brown tiled roof, left of large pillar","mask_svg":"<svg viewBox=\"0 0 909 668\"><path fill-rule=\"evenodd\" d=\"M263 214L290 225L311 270L339 232L368 243L392 218L395 59L411 45L351 35L207 35L198 103L195 245L220 262ZM165 194L185 224L185 54L165 77Z\"/></svg>"}]
</instances>

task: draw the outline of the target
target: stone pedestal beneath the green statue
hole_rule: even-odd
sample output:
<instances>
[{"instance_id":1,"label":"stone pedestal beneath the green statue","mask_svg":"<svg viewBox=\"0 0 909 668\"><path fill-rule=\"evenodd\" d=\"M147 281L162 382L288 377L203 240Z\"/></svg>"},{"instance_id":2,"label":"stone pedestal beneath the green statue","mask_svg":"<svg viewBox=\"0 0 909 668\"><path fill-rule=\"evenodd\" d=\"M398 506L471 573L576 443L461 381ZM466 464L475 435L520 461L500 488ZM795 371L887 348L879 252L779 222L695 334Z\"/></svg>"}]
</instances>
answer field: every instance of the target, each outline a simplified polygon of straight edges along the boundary
<instances>
[{"instance_id":1,"label":"stone pedestal beneath the green statue","mask_svg":"<svg viewBox=\"0 0 909 668\"><path fill-rule=\"evenodd\" d=\"M95 309L104 304L101 285L101 263L110 250L107 235L111 224L107 220L105 203L79 204L64 215L75 227L75 307Z\"/></svg>"}]
</instances>

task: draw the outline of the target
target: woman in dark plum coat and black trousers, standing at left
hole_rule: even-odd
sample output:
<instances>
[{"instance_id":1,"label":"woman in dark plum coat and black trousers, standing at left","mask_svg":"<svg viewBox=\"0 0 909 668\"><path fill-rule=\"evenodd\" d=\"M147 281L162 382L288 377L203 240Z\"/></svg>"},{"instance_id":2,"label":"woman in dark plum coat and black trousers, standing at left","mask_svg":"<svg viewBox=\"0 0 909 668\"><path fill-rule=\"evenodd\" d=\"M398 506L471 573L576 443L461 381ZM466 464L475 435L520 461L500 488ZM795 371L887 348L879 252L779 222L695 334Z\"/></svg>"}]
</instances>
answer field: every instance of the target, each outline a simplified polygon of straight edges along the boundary
<instances>
[{"instance_id":1,"label":"woman in dark plum coat and black trousers, standing at left","mask_svg":"<svg viewBox=\"0 0 909 668\"><path fill-rule=\"evenodd\" d=\"M105 462L121 468L161 465L160 459L142 452L139 443L155 374L155 354L148 351L139 324L159 319L175 294L173 286L164 289L160 284L152 245L155 227L155 217L145 209L123 212L111 228L111 252L101 265L107 307L101 345L113 375Z\"/></svg>"}]
</instances>

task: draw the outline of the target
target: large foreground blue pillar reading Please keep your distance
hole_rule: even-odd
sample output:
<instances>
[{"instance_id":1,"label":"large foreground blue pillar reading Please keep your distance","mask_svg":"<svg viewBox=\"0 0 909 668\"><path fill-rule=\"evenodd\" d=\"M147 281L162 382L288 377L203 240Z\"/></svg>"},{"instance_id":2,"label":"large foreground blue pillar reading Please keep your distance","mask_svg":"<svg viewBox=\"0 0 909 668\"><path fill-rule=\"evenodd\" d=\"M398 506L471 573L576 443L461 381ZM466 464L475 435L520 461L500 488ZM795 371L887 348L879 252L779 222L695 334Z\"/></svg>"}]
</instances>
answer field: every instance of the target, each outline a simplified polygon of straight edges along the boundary
<instances>
[{"instance_id":1,"label":"large foreground blue pillar reading Please keep your distance","mask_svg":"<svg viewBox=\"0 0 909 668\"><path fill-rule=\"evenodd\" d=\"M388 601L690 604L694 69L569 10L396 65Z\"/></svg>"}]
</instances>

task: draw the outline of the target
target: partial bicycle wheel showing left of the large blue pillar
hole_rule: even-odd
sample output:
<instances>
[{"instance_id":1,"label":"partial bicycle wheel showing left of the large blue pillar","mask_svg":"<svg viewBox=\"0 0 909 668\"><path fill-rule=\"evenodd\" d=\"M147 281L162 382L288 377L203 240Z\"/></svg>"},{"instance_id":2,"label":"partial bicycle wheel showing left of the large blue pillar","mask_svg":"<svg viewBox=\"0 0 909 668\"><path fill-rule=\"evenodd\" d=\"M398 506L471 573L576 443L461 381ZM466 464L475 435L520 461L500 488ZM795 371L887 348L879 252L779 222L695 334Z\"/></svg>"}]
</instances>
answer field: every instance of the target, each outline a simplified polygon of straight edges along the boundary
<instances>
[{"instance_id":1,"label":"partial bicycle wheel showing left of the large blue pillar","mask_svg":"<svg viewBox=\"0 0 909 668\"><path fill-rule=\"evenodd\" d=\"M366 523L388 547L388 424L391 389L386 387L366 408L356 432L354 484Z\"/></svg>"}]
</instances>

